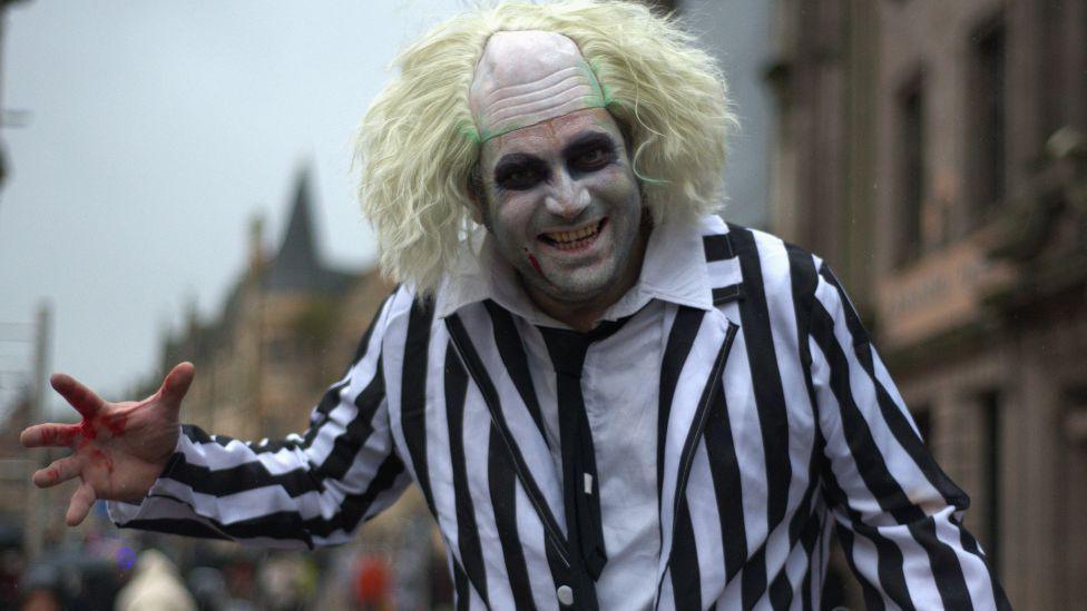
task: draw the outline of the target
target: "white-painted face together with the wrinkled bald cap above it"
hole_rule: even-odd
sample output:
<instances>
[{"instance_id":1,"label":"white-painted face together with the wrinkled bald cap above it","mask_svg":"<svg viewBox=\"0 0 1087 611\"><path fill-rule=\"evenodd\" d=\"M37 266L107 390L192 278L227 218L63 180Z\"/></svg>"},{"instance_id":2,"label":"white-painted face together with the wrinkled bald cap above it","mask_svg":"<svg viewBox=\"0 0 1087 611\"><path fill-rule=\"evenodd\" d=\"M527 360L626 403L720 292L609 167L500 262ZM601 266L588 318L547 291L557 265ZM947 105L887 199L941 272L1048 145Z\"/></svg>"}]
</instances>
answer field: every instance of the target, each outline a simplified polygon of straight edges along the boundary
<instances>
[{"instance_id":1,"label":"white-painted face together with the wrinkled bald cap above it","mask_svg":"<svg viewBox=\"0 0 1087 611\"><path fill-rule=\"evenodd\" d=\"M619 126L570 39L498 32L470 104L484 136L481 213L538 305L601 308L642 268L642 196ZM556 316L558 314L558 316Z\"/></svg>"}]
</instances>

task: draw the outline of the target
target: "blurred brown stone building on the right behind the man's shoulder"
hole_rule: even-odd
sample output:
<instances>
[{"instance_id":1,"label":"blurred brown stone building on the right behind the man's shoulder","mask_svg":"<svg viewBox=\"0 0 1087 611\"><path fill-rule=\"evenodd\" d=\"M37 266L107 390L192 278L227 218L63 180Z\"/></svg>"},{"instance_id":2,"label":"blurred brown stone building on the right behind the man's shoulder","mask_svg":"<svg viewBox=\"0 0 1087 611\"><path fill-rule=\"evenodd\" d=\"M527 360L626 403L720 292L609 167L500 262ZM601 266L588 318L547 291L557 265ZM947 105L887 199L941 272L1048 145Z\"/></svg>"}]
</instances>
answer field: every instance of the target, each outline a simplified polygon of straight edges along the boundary
<instances>
[{"instance_id":1,"label":"blurred brown stone building on the right behind the man's shoulder","mask_svg":"<svg viewBox=\"0 0 1087 611\"><path fill-rule=\"evenodd\" d=\"M1011 602L1084 609L1087 2L775 11L772 228L850 287Z\"/></svg>"}]
</instances>

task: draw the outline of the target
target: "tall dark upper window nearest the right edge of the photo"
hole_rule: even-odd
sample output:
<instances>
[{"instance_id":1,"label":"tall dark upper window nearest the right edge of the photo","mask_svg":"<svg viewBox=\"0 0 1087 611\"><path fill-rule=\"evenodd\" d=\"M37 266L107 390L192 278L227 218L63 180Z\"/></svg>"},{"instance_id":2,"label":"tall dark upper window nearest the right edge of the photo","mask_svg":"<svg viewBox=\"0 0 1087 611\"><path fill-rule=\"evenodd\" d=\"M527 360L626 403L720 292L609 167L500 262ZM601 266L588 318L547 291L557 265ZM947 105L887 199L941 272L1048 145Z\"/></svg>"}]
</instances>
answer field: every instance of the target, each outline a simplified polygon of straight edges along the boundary
<instances>
[{"instance_id":1,"label":"tall dark upper window nearest the right edge of the photo","mask_svg":"<svg viewBox=\"0 0 1087 611\"><path fill-rule=\"evenodd\" d=\"M968 179L975 216L981 220L1007 191L1007 36L1002 19L991 19L975 30L970 62L967 96L972 125L967 155L972 162Z\"/></svg>"}]
</instances>

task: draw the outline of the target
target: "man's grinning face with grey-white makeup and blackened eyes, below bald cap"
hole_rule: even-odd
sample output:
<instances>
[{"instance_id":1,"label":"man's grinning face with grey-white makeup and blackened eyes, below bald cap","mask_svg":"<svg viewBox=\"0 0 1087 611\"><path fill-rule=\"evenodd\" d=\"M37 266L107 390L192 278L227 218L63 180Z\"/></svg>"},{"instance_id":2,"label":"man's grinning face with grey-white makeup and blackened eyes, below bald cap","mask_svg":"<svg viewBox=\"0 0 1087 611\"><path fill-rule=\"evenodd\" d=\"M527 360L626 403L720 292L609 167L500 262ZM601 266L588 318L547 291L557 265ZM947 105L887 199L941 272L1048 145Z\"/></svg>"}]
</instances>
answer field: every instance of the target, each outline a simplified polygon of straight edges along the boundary
<instances>
[{"instance_id":1,"label":"man's grinning face with grey-white makeup and blackened eyes, below bald cap","mask_svg":"<svg viewBox=\"0 0 1087 611\"><path fill-rule=\"evenodd\" d=\"M640 268L642 196L607 110L494 137L479 171L482 219L530 294L590 303Z\"/></svg>"}]
</instances>

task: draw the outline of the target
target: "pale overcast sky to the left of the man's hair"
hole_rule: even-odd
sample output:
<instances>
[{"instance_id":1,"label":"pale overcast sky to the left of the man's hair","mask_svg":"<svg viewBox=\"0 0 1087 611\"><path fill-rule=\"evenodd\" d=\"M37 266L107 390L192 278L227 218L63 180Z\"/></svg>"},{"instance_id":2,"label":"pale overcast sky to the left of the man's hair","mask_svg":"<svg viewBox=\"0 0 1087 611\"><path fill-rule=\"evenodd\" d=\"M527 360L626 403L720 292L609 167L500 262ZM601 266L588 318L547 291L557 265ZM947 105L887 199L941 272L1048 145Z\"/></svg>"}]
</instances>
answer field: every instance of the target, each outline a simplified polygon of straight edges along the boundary
<instances>
[{"instance_id":1,"label":"pale overcast sky to the left of the man's hair","mask_svg":"<svg viewBox=\"0 0 1087 611\"><path fill-rule=\"evenodd\" d=\"M48 299L51 371L138 398L121 395L155 369L186 304L217 314L248 219L263 215L278 244L303 166L325 259L372 262L351 134L396 50L464 4L14 4L0 56L0 323L30 322ZM0 410L29 365L11 335L0 324Z\"/></svg>"}]
</instances>

